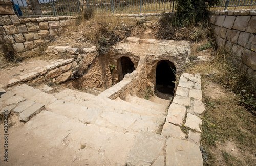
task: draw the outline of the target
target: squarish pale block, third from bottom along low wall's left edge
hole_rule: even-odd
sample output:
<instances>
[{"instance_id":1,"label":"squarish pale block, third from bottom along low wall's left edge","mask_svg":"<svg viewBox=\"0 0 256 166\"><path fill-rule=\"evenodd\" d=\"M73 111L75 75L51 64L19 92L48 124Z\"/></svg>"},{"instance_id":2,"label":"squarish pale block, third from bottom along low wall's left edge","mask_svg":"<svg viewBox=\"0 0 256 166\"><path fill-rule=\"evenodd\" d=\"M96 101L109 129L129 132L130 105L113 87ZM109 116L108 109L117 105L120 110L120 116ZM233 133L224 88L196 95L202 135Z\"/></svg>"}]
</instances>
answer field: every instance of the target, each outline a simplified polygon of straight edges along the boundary
<instances>
[{"instance_id":1,"label":"squarish pale block, third from bottom along low wall's left edge","mask_svg":"<svg viewBox=\"0 0 256 166\"><path fill-rule=\"evenodd\" d=\"M186 115L186 107L176 103L172 103L168 109L166 122L182 125L185 115Z\"/></svg>"}]
</instances>

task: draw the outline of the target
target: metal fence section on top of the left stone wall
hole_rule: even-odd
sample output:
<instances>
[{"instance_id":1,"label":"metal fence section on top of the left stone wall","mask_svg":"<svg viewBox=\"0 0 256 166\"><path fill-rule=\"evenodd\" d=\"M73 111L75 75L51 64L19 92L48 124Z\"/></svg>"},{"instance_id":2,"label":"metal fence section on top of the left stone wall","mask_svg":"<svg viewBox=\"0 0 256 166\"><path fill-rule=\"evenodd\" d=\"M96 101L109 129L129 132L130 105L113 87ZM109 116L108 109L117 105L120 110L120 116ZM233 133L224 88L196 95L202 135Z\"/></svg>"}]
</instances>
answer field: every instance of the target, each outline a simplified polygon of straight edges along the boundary
<instances>
[{"instance_id":1,"label":"metal fence section on top of the left stone wall","mask_svg":"<svg viewBox=\"0 0 256 166\"><path fill-rule=\"evenodd\" d=\"M18 16L57 16L80 13L79 0L12 0Z\"/></svg>"}]
</instances>

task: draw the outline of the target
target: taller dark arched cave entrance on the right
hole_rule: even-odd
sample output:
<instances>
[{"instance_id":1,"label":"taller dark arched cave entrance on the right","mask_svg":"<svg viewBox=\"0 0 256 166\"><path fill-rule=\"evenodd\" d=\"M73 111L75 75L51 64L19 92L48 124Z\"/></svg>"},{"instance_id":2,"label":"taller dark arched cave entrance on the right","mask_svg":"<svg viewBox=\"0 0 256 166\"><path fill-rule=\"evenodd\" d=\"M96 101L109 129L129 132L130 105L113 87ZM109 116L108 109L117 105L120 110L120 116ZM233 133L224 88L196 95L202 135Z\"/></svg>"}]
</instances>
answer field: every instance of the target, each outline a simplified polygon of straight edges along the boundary
<instances>
[{"instance_id":1,"label":"taller dark arched cave entrance on the right","mask_svg":"<svg viewBox=\"0 0 256 166\"><path fill-rule=\"evenodd\" d=\"M159 98L168 100L174 96L176 81L175 65L168 60L161 60L156 68L156 94Z\"/></svg>"}]
</instances>

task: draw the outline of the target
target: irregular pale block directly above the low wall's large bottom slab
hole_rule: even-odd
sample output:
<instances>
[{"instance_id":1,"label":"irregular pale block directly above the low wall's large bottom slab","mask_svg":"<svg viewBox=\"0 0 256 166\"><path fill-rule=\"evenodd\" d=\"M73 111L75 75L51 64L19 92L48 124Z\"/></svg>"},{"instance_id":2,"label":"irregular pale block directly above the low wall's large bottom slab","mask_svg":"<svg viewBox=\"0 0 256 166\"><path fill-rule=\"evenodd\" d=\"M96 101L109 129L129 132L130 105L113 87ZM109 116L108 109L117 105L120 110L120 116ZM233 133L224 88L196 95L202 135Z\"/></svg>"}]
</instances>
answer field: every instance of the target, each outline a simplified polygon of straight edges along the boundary
<instances>
[{"instance_id":1,"label":"irregular pale block directly above the low wall's large bottom slab","mask_svg":"<svg viewBox=\"0 0 256 166\"><path fill-rule=\"evenodd\" d=\"M162 134L165 137L173 137L178 139L186 139L186 134L184 134L179 126L175 126L171 123L166 122L163 125Z\"/></svg>"}]
</instances>

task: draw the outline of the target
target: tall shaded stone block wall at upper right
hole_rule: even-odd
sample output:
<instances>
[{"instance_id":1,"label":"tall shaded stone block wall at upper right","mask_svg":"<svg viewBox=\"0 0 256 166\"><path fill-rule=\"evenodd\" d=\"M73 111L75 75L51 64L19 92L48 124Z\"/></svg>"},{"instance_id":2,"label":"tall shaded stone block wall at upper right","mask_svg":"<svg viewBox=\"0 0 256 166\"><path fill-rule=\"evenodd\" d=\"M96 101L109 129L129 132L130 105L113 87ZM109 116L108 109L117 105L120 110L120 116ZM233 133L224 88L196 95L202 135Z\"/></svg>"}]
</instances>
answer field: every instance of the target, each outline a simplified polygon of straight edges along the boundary
<instances>
[{"instance_id":1,"label":"tall shaded stone block wall at upper right","mask_svg":"<svg viewBox=\"0 0 256 166\"><path fill-rule=\"evenodd\" d=\"M256 10L215 11L210 25L218 46L232 54L232 61L256 77Z\"/></svg>"}]
</instances>

